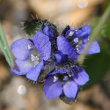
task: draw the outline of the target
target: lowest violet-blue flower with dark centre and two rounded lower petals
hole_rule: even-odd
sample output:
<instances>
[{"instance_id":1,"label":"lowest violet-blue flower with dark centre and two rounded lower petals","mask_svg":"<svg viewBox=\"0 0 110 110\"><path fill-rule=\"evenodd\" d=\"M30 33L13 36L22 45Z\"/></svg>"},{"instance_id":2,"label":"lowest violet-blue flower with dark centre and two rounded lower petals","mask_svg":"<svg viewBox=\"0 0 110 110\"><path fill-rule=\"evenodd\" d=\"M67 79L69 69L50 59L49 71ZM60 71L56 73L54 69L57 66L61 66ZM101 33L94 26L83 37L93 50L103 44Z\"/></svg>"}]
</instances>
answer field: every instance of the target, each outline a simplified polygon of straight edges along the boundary
<instances>
[{"instance_id":1,"label":"lowest violet-blue flower with dark centre and two rounded lower petals","mask_svg":"<svg viewBox=\"0 0 110 110\"><path fill-rule=\"evenodd\" d=\"M48 99L60 97L75 99L79 86L89 81L86 71L79 65L70 69L59 69L50 73L45 81L44 91Z\"/></svg>"}]
</instances>

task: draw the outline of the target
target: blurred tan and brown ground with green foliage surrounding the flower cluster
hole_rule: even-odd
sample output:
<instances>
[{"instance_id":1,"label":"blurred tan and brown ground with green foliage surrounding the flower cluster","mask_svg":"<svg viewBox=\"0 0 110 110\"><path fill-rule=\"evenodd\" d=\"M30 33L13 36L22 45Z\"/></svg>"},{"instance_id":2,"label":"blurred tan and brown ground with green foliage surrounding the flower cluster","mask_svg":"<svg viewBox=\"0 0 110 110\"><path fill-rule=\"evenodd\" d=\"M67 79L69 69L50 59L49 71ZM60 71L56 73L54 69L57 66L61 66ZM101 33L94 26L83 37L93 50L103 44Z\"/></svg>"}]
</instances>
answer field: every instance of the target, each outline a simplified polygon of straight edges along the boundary
<instances>
[{"instance_id":1,"label":"blurred tan and brown ground with green foliage surrounding the flower cluster","mask_svg":"<svg viewBox=\"0 0 110 110\"><path fill-rule=\"evenodd\" d=\"M26 37L23 22L30 13L58 26L97 26L110 0L0 0L0 21L8 44ZM101 21L100 21L101 22ZM12 76L0 50L0 110L110 110L110 17L99 33L101 53L87 56L83 67L90 81L80 88L77 99L67 105L47 100L43 88L25 77Z\"/></svg>"}]
</instances>

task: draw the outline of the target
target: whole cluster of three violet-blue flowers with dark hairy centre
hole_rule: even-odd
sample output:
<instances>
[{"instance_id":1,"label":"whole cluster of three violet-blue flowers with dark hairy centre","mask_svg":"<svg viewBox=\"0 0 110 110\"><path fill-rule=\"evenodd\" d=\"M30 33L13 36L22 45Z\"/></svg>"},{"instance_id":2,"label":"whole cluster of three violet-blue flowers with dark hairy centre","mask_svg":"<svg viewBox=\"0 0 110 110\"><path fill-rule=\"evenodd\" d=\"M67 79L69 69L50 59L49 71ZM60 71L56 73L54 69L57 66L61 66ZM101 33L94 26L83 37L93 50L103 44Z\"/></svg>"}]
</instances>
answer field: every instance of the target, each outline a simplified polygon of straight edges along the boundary
<instances>
[{"instance_id":1,"label":"whole cluster of three violet-blue flowers with dark hairy centre","mask_svg":"<svg viewBox=\"0 0 110 110\"><path fill-rule=\"evenodd\" d=\"M42 79L48 99L60 97L64 102L72 103L79 87L89 81L77 59L90 34L91 27L86 25L77 30L67 26L59 35L55 25L44 23L32 39L22 38L11 45L16 58L11 73L26 75L32 81ZM99 52L99 44L94 41L87 54Z\"/></svg>"}]
</instances>

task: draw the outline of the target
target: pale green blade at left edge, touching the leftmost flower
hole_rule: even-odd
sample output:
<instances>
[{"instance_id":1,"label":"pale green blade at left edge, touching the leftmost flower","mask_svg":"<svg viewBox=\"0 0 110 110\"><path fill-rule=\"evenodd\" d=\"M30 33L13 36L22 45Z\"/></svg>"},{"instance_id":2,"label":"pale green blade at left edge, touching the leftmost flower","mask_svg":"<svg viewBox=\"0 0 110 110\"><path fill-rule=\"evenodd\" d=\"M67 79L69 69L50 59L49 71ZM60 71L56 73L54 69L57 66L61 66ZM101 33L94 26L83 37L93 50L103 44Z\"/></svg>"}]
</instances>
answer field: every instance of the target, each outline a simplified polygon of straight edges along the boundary
<instances>
[{"instance_id":1,"label":"pale green blade at left edge, touching the leftmost flower","mask_svg":"<svg viewBox=\"0 0 110 110\"><path fill-rule=\"evenodd\" d=\"M0 24L0 48L3 51L8 64L10 65L10 67L12 67L14 65L13 58L6 37L3 33L1 24Z\"/></svg>"}]
</instances>

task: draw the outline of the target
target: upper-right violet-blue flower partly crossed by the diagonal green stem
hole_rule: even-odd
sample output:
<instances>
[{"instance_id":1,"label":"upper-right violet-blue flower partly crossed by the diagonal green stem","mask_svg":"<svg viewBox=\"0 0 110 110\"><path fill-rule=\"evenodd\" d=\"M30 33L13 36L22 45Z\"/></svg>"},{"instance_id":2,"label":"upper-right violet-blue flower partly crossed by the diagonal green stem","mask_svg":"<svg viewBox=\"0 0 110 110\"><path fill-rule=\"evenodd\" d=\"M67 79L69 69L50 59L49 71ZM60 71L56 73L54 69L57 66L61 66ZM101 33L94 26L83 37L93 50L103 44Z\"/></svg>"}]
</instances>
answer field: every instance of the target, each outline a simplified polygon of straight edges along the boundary
<instances>
[{"instance_id":1,"label":"upper-right violet-blue flower partly crossed by the diagonal green stem","mask_svg":"<svg viewBox=\"0 0 110 110\"><path fill-rule=\"evenodd\" d=\"M68 55L70 59L77 59L86 47L91 34L90 26L83 26L78 30L71 30L69 26L65 28L62 35L57 38L58 50ZM94 41L87 54L100 53L100 47L97 41Z\"/></svg>"}]
</instances>

